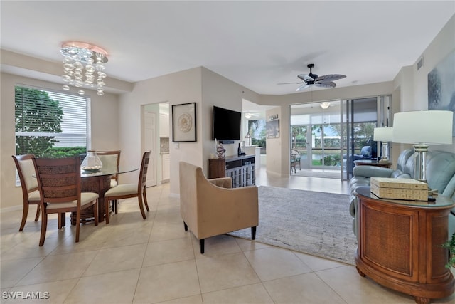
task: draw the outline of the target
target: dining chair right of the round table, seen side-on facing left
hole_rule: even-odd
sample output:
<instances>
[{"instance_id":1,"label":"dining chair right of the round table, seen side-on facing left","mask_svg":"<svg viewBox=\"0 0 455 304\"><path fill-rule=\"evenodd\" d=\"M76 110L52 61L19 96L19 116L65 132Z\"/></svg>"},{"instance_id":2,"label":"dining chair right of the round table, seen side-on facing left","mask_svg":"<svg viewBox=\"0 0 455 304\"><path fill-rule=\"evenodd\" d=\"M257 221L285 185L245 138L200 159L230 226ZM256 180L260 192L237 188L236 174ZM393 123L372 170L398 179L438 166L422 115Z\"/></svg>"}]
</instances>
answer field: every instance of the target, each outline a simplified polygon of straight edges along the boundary
<instances>
[{"instance_id":1,"label":"dining chair right of the round table, seen side-on facing left","mask_svg":"<svg viewBox=\"0 0 455 304\"><path fill-rule=\"evenodd\" d=\"M137 184L119 184L105 193L105 210L109 210L109 201L114 201L115 209L117 210L117 201L119 199L129 199L131 197L137 197L139 202L139 210L143 219L146 219L144 211L144 204L147 211L150 211L149 204L147 203L146 195L146 179L147 169L149 167L151 151L146 151L142 155L141 171L139 172L139 181ZM109 224L109 212L106 212L106 224Z\"/></svg>"}]
</instances>

